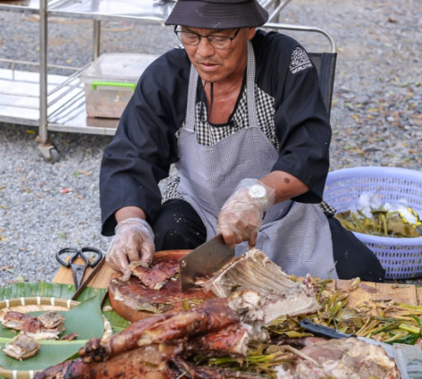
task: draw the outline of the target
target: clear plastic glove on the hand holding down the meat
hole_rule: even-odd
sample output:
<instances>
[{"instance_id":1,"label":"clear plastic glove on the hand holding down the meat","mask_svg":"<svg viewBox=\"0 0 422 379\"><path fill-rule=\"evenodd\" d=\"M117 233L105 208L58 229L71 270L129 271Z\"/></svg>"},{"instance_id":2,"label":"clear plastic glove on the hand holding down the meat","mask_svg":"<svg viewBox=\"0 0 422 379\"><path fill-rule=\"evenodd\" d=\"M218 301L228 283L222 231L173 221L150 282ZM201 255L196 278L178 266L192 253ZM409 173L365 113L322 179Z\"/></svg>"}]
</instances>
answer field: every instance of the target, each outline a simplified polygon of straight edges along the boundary
<instances>
[{"instance_id":1,"label":"clear plastic glove on the hand holding down the meat","mask_svg":"<svg viewBox=\"0 0 422 379\"><path fill-rule=\"evenodd\" d=\"M132 274L129 262L142 262L148 267L153 261L154 251L154 232L148 222L141 218L127 218L115 228L106 262L114 270L122 272L122 280L127 281Z\"/></svg>"}]
</instances>

